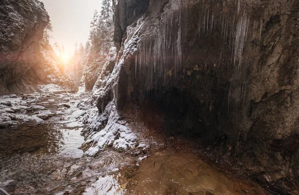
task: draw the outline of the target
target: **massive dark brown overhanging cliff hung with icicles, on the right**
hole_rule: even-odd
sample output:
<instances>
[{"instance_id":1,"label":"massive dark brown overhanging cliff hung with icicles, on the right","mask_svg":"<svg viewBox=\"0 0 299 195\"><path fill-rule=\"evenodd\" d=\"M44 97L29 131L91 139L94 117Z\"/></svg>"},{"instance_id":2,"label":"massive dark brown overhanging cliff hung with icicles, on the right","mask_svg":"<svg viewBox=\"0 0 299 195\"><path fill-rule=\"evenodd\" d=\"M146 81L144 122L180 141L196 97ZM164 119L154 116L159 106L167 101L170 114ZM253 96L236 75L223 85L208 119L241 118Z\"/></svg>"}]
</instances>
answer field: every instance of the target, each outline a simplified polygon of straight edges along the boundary
<instances>
[{"instance_id":1,"label":"massive dark brown overhanging cliff hung with icicles, on the right","mask_svg":"<svg viewBox=\"0 0 299 195\"><path fill-rule=\"evenodd\" d=\"M97 82L99 110L154 102L170 133L196 135L273 191L298 193L299 2L118 0L114 8L118 55Z\"/></svg>"}]
</instances>

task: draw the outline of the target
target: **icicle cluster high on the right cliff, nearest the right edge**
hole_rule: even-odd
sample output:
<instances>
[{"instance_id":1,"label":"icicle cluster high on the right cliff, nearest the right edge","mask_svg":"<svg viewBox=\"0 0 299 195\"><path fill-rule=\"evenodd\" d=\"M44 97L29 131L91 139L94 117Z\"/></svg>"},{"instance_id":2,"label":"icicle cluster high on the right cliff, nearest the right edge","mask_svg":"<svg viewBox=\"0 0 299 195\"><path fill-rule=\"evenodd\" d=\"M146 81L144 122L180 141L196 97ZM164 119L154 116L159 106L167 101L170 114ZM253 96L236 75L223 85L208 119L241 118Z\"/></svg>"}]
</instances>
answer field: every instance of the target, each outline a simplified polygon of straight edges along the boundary
<instances>
[{"instance_id":1,"label":"icicle cluster high on the right cliff, nearest the right edge","mask_svg":"<svg viewBox=\"0 0 299 195\"><path fill-rule=\"evenodd\" d=\"M240 0L238 1L238 14L233 17L226 15L215 16L213 11L204 9L201 11L198 25L199 37L206 33L215 33L221 29L221 39L224 44L228 44L231 48L231 63L233 66L242 68L243 53L245 43L248 39L248 33L253 27L252 40L258 38L261 41L263 20L251 22L250 16L246 12L240 13Z\"/></svg>"}]
</instances>

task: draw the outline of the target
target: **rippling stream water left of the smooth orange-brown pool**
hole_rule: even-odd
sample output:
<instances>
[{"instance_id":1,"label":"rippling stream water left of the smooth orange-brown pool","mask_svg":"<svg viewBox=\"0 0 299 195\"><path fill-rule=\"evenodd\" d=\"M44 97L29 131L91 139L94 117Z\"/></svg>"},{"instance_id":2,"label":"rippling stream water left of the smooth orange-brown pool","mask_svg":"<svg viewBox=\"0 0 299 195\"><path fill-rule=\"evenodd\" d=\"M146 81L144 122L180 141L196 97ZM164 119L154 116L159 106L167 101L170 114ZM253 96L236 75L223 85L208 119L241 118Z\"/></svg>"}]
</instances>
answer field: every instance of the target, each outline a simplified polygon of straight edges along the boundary
<instances>
[{"instance_id":1,"label":"rippling stream water left of the smooth orange-brown pool","mask_svg":"<svg viewBox=\"0 0 299 195\"><path fill-rule=\"evenodd\" d=\"M0 130L0 188L11 195L82 194L132 161L114 151L83 157L80 132L46 125Z\"/></svg>"}]
</instances>

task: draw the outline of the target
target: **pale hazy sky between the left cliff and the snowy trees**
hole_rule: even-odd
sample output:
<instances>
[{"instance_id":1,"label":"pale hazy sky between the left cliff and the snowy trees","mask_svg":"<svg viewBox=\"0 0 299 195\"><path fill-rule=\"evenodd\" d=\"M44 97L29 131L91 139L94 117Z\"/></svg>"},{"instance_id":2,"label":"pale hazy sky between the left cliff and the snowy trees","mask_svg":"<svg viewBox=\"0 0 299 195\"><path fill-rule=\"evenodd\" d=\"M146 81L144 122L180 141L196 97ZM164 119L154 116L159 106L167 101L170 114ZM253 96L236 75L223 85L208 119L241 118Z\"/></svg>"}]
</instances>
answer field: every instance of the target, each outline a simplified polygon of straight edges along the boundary
<instances>
[{"instance_id":1,"label":"pale hazy sky between the left cliff and the snowy trees","mask_svg":"<svg viewBox=\"0 0 299 195\"><path fill-rule=\"evenodd\" d=\"M53 26L50 43L64 46L72 55L75 43L85 45L88 41L90 22L95 10L100 11L102 0L41 0Z\"/></svg>"}]
</instances>

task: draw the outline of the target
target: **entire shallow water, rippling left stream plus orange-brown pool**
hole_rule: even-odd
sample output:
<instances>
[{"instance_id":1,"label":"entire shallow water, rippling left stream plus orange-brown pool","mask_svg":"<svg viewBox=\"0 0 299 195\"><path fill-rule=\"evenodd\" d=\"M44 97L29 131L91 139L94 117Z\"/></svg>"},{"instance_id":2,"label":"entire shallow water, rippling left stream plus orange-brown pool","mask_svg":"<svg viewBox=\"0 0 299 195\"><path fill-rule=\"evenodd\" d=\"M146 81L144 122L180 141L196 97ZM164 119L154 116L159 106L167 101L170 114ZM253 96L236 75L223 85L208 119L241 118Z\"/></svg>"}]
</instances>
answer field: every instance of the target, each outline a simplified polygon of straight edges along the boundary
<instances>
[{"instance_id":1,"label":"entire shallow water, rippling left stream plus orange-brown pool","mask_svg":"<svg viewBox=\"0 0 299 195\"><path fill-rule=\"evenodd\" d=\"M67 128L61 119L0 129L0 188L10 195L267 195L184 150L152 151L142 161L136 159L144 154L110 149L84 156L83 128Z\"/></svg>"}]
</instances>

